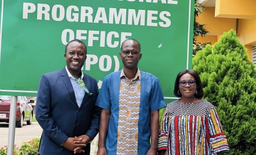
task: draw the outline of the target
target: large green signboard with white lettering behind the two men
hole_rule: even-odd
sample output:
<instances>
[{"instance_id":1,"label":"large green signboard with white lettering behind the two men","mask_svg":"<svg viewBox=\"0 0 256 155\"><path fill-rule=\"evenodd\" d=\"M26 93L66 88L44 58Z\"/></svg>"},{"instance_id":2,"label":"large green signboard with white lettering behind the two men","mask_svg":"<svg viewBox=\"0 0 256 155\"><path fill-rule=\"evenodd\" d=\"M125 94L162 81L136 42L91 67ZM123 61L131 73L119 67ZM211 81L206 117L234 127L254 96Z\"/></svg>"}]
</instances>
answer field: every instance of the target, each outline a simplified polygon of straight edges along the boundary
<instances>
[{"instance_id":1,"label":"large green signboard with white lettering behind the two men","mask_svg":"<svg viewBox=\"0 0 256 155\"><path fill-rule=\"evenodd\" d=\"M36 96L43 73L65 67L69 40L87 45L83 72L98 80L122 69L120 45L141 43L141 71L159 78L166 99L192 67L193 0L1 1L0 94Z\"/></svg>"}]
</instances>

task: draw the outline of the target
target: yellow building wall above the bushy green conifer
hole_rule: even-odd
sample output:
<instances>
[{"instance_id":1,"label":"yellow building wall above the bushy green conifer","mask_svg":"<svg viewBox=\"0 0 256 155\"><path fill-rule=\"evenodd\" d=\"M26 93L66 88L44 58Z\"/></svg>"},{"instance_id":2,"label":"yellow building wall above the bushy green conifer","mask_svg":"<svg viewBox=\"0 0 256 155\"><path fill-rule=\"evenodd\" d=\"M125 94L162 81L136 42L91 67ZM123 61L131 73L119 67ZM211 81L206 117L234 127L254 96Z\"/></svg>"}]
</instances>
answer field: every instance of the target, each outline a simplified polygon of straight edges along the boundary
<instances>
[{"instance_id":1,"label":"yellow building wall above the bushy green conifer","mask_svg":"<svg viewBox=\"0 0 256 155\"><path fill-rule=\"evenodd\" d=\"M215 7L204 7L196 17L199 24L206 24L206 36L198 36L198 43L217 42L224 32L234 29L237 38L246 47L251 60L253 45L256 45L256 1L216 0ZM238 19L238 20L237 20Z\"/></svg>"}]
</instances>

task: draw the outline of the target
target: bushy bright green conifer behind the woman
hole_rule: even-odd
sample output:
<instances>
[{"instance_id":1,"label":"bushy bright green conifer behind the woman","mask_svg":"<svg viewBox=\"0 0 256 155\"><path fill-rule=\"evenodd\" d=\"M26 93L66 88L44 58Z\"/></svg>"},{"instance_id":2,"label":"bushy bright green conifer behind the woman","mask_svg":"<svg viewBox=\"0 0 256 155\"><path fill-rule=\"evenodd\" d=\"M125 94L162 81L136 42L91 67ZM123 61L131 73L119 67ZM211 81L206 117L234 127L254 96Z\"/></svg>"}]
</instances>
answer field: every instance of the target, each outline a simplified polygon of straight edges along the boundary
<instances>
[{"instance_id":1,"label":"bushy bright green conifer behind the woman","mask_svg":"<svg viewBox=\"0 0 256 155\"><path fill-rule=\"evenodd\" d=\"M199 51L193 69L202 79L204 99L217 109L228 154L256 154L256 72L236 32Z\"/></svg>"}]
</instances>

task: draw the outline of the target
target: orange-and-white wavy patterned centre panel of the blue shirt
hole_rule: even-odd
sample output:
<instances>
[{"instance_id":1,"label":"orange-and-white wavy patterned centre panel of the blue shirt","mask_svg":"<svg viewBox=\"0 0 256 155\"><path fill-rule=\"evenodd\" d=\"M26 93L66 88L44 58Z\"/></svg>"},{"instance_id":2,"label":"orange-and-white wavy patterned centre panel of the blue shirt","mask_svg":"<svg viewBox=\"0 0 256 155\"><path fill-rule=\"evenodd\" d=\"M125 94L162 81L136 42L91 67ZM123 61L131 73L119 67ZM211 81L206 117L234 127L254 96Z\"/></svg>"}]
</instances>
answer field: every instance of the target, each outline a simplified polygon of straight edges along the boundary
<instances>
[{"instance_id":1,"label":"orange-and-white wavy patterned centre panel of the blue shirt","mask_svg":"<svg viewBox=\"0 0 256 155\"><path fill-rule=\"evenodd\" d=\"M140 70L133 80L120 75L117 154L137 154L138 114L140 111Z\"/></svg>"}]
</instances>

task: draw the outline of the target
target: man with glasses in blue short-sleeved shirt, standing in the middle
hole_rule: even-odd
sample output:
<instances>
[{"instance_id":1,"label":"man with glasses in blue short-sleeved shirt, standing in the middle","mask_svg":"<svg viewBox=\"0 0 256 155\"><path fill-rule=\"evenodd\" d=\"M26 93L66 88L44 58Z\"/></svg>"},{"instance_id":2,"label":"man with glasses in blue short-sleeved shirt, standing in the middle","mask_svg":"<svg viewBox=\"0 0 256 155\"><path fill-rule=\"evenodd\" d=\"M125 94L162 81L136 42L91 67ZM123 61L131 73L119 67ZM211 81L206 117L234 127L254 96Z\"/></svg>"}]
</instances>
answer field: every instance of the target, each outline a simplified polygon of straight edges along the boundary
<instances>
[{"instance_id":1,"label":"man with glasses in blue short-sleeved shirt, standing in the middle","mask_svg":"<svg viewBox=\"0 0 256 155\"><path fill-rule=\"evenodd\" d=\"M138 69L142 54L137 40L125 40L119 56L122 71L104 78L96 101L103 108L97 154L155 155L159 109L166 106L159 80Z\"/></svg>"}]
</instances>

